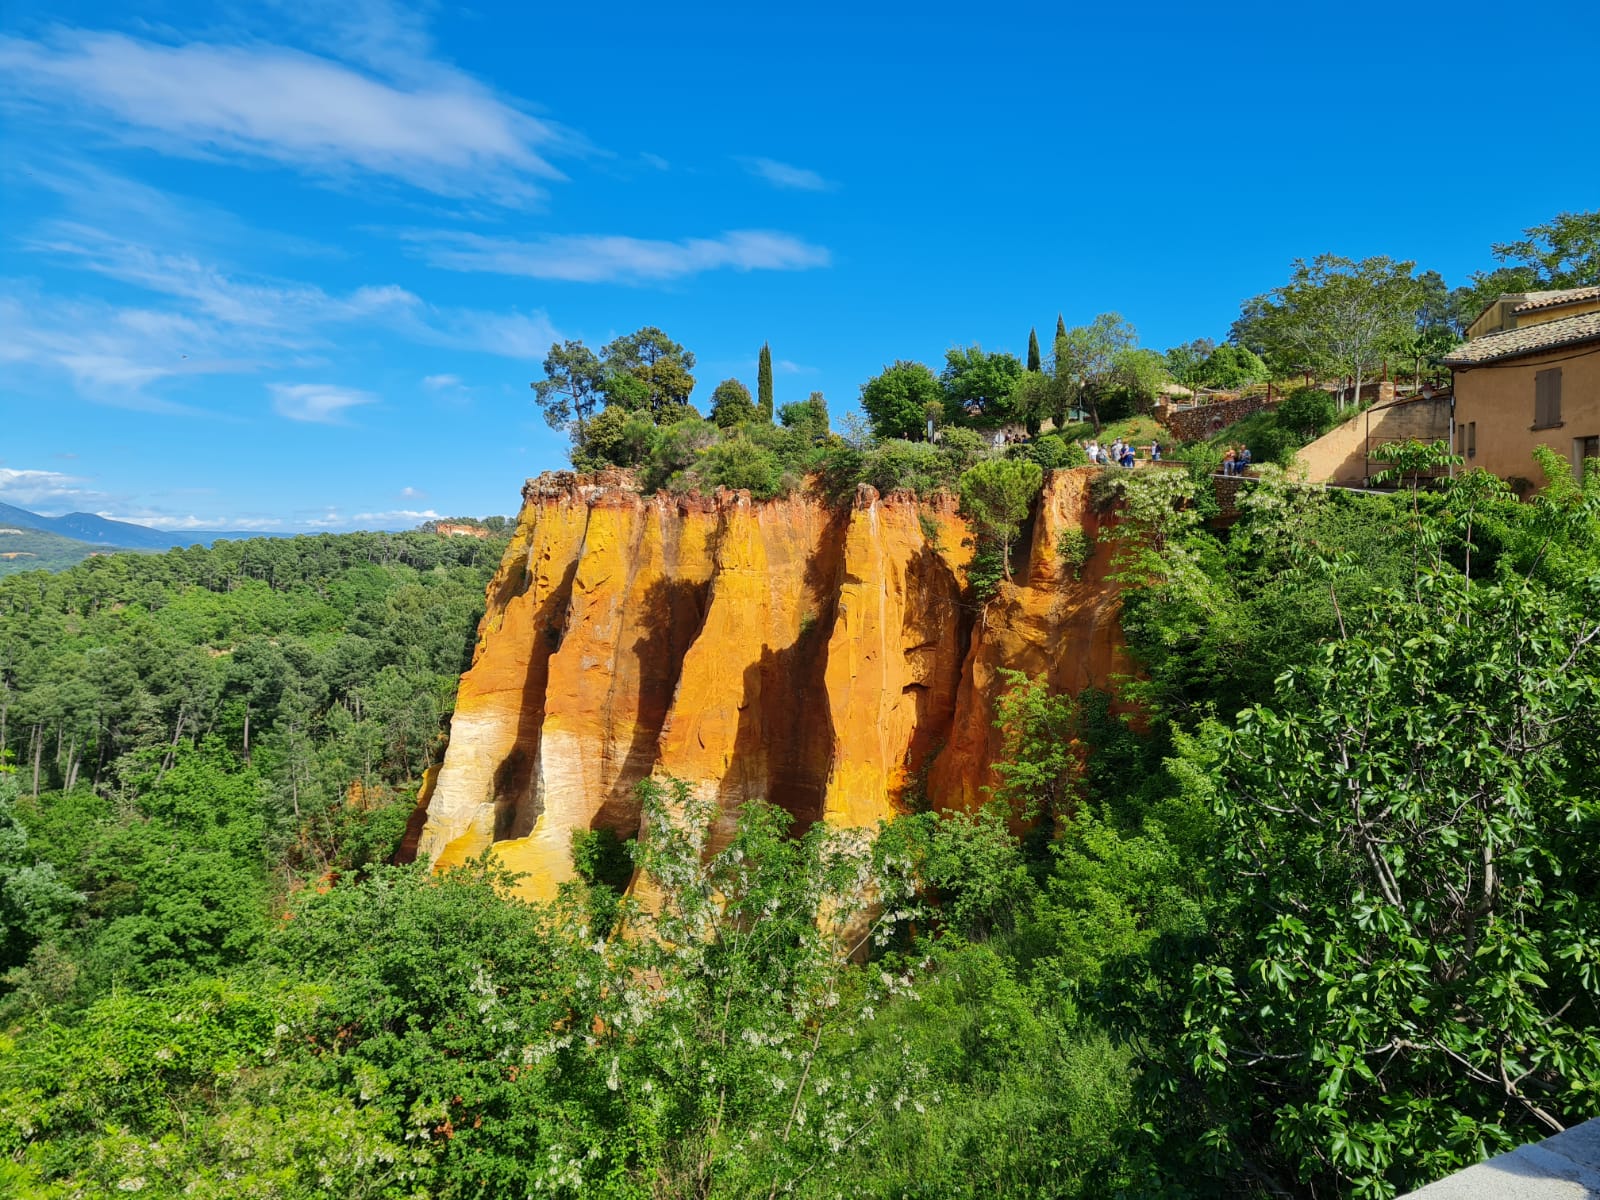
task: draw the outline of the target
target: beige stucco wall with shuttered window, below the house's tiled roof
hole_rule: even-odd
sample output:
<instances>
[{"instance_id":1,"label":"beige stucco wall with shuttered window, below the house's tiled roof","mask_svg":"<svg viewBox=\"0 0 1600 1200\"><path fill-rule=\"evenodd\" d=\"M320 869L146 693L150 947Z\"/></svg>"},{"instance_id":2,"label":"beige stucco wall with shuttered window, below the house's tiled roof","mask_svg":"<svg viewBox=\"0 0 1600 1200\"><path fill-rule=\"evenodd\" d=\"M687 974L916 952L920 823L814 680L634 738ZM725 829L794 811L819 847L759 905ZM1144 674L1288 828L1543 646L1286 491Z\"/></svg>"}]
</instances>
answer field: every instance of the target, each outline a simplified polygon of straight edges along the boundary
<instances>
[{"instance_id":1,"label":"beige stucco wall with shuttered window, below the house's tiled roof","mask_svg":"<svg viewBox=\"0 0 1600 1200\"><path fill-rule=\"evenodd\" d=\"M1562 424L1536 430L1533 378L1547 366L1562 368ZM1456 429L1461 430L1456 450L1461 453L1469 422L1477 422L1478 448L1469 467L1542 483L1533 461L1536 445L1571 459L1574 438L1600 435L1600 344L1570 346L1474 370L1456 368Z\"/></svg>"}]
</instances>

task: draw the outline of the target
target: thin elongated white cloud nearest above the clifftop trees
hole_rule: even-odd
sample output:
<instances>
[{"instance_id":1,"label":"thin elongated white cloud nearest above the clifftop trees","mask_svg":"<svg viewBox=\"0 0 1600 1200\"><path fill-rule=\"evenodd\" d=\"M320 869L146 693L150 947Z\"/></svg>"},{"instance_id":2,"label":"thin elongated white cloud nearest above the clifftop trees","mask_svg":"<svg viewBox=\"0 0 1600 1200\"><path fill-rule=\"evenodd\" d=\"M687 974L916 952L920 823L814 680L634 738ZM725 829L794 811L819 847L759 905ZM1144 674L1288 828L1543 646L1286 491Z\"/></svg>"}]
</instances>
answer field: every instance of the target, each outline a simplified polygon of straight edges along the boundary
<instances>
[{"instance_id":1,"label":"thin elongated white cloud nearest above the clifftop trees","mask_svg":"<svg viewBox=\"0 0 1600 1200\"><path fill-rule=\"evenodd\" d=\"M808 270L830 261L824 246L790 234L738 229L720 237L662 242L574 234L533 240L445 230L413 230L405 240L446 270L565 280L570 283L656 283L704 270ZM546 347L549 342L546 342Z\"/></svg>"}]
</instances>

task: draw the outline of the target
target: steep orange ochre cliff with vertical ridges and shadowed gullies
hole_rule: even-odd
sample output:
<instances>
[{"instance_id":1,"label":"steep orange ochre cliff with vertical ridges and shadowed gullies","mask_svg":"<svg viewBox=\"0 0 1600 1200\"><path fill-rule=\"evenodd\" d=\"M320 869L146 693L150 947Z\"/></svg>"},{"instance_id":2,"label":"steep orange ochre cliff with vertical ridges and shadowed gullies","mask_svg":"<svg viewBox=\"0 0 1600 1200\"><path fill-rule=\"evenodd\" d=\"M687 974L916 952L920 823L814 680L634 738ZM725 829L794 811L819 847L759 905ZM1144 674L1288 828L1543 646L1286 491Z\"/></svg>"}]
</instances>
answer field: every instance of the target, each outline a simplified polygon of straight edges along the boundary
<instances>
[{"instance_id":1,"label":"steep orange ochre cliff with vertical ridges and shadowed gullies","mask_svg":"<svg viewBox=\"0 0 1600 1200\"><path fill-rule=\"evenodd\" d=\"M686 779L731 816L750 798L805 827L874 826L925 781L982 803L998 670L1080 691L1125 669L1104 549L1083 579L1062 528L1096 531L1091 472L1054 472L1027 565L963 605L952 498L757 502L642 496L621 472L541 475L499 573L418 853L493 845L523 888L571 878L574 830L638 829L635 784Z\"/></svg>"}]
</instances>

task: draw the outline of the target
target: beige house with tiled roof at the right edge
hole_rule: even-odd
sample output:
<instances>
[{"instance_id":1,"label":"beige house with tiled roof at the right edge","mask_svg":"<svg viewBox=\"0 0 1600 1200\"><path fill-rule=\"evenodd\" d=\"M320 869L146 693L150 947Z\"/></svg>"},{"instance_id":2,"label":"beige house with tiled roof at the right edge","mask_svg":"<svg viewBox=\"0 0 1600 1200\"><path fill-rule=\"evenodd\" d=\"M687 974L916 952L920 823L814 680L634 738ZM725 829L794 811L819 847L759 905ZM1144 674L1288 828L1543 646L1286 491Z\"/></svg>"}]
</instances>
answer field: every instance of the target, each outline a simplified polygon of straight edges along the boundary
<instances>
[{"instance_id":1,"label":"beige house with tiled roof at the right edge","mask_svg":"<svg viewBox=\"0 0 1600 1200\"><path fill-rule=\"evenodd\" d=\"M1600 286L1501 296L1443 363L1454 371L1454 450L1469 467L1542 483L1534 446L1574 474L1600 458Z\"/></svg>"}]
</instances>

